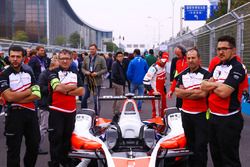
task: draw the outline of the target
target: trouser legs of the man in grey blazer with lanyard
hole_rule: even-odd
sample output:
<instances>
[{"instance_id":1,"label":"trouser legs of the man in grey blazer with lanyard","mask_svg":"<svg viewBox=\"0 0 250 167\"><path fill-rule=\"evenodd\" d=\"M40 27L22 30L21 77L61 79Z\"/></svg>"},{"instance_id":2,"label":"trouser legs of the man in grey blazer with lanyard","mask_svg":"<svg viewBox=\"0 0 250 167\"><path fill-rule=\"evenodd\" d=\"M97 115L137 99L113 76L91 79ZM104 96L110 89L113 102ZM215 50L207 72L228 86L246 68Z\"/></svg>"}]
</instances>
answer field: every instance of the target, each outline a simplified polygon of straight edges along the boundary
<instances>
[{"instance_id":1,"label":"trouser legs of the man in grey blazer with lanyard","mask_svg":"<svg viewBox=\"0 0 250 167\"><path fill-rule=\"evenodd\" d=\"M88 85L84 85L85 89L85 94L82 97L82 103L81 103L81 108L88 108L88 98L90 97L90 89ZM100 91L101 91L101 86L96 86L94 93L93 93L93 98L94 98L94 106L95 106L95 113L96 115L100 114L100 103L98 103L98 108L97 108L97 97L100 96Z\"/></svg>"}]
</instances>

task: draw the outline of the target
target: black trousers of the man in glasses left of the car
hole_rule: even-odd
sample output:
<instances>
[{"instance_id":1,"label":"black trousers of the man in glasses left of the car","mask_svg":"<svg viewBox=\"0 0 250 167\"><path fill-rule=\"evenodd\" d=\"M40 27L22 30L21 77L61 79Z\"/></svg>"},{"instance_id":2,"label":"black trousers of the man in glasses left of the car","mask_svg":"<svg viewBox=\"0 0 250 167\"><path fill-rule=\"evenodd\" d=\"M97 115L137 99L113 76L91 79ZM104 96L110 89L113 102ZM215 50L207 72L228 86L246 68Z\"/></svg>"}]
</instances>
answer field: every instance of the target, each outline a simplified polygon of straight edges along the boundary
<instances>
[{"instance_id":1,"label":"black trousers of the man in glasses left of the car","mask_svg":"<svg viewBox=\"0 0 250 167\"><path fill-rule=\"evenodd\" d=\"M68 153L71 149L71 135L75 125L75 115L51 110L49 115L49 142L50 157L49 166L67 166L70 164Z\"/></svg>"}]
</instances>

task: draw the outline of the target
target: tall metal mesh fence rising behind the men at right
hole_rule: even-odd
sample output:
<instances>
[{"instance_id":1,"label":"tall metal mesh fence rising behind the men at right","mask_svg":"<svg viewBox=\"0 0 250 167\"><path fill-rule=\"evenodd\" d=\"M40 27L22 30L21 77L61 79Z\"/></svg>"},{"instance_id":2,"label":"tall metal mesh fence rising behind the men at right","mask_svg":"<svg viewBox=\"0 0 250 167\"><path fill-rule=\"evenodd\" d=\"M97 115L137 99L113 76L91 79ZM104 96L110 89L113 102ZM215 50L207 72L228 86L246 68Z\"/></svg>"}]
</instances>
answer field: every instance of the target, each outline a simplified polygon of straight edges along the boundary
<instances>
[{"instance_id":1,"label":"tall metal mesh fence rising behind the men at right","mask_svg":"<svg viewBox=\"0 0 250 167\"><path fill-rule=\"evenodd\" d=\"M231 35L236 39L237 54L250 71L250 2L232 10L212 22L174 38L167 43L170 55L174 48L183 45L186 48L196 46L201 54L202 66L208 67L216 55L216 41L222 35Z\"/></svg>"}]
</instances>

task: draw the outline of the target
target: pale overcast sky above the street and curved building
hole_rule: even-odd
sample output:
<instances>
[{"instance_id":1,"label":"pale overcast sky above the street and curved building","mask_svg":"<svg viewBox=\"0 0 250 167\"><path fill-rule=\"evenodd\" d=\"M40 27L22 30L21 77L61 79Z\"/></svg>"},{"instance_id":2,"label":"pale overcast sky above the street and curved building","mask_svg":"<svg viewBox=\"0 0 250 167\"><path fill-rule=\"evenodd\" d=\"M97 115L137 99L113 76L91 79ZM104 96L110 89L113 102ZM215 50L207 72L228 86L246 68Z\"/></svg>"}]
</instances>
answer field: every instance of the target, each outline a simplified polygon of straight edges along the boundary
<instances>
[{"instance_id":1,"label":"pale overcast sky above the street and curved building","mask_svg":"<svg viewBox=\"0 0 250 167\"><path fill-rule=\"evenodd\" d=\"M111 30L116 43L143 43L147 46L168 40L180 30L180 8L184 5L209 5L208 0L68 0L75 13L96 28ZM174 2L174 5L173 3ZM173 8L174 6L174 8ZM204 21L184 21L192 30ZM160 31L159 31L160 29ZM159 35L160 32L160 35Z\"/></svg>"}]
</instances>

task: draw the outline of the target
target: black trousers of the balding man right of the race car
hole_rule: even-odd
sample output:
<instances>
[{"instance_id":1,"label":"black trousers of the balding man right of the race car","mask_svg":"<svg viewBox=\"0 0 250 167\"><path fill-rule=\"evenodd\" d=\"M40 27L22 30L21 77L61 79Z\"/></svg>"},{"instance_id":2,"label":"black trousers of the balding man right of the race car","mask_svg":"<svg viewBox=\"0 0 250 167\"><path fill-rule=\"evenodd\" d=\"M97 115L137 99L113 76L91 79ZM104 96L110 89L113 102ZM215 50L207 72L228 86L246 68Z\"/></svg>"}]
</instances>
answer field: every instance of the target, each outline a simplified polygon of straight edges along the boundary
<instances>
[{"instance_id":1,"label":"black trousers of the balding man right of the race car","mask_svg":"<svg viewBox=\"0 0 250 167\"><path fill-rule=\"evenodd\" d=\"M188 114L181 112L182 126L187 139L187 147L194 154L189 157L189 167L207 166L208 121L206 112Z\"/></svg>"}]
</instances>

